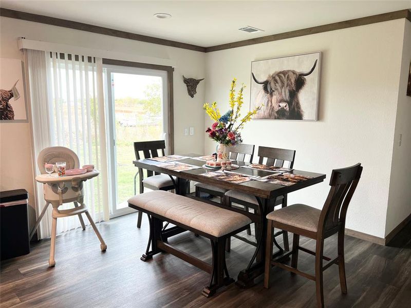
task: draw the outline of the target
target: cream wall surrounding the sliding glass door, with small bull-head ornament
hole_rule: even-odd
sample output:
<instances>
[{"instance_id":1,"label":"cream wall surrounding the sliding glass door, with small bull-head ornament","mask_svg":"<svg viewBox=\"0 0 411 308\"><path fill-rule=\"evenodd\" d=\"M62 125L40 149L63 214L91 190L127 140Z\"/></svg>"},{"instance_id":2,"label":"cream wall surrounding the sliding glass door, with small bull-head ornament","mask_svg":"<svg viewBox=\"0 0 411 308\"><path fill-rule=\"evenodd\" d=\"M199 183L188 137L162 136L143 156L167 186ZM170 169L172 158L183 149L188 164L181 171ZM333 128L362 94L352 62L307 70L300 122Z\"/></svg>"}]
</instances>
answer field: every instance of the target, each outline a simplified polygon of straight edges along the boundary
<instances>
[{"instance_id":1,"label":"cream wall surrounding the sliding glass door, with small bull-head ornament","mask_svg":"<svg viewBox=\"0 0 411 308\"><path fill-rule=\"evenodd\" d=\"M204 117L202 104L205 85L200 83L197 94L189 97L182 74L197 79L205 75L205 54L180 48L137 42L102 34L66 29L12 18L0 18L0 57L23 60L17 49L17 38L46 41L93 49L132 53L141 56L171 59L174 71L174 132L175 152L203 152ZM183 136L183 128L193 126L194 136ZM25 188L33 198L33 175L29 123L0 123L0 189ZM31 203L33 206L33 204ZM33 213L32 213L33 215Z\"/></svg>"}]
</instances>

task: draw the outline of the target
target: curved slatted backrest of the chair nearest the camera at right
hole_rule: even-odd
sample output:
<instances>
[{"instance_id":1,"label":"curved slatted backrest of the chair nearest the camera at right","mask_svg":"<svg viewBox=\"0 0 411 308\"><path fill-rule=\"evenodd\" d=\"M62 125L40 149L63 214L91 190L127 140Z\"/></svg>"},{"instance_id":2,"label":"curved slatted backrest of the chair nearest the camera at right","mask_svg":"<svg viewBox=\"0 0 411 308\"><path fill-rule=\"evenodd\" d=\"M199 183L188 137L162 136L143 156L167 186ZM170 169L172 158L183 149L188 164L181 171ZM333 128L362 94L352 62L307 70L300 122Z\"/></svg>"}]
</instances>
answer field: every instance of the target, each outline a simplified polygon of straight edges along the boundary
<instances>
[{"instance_id":1,"label":"curved slatted backrest of the chair nearest the camera at right","mask_svg":"<svg viewBox=\"0 0 411 308\"><path fill-rule=\"evenodd\" d=\"M360 163L331 173L330 191L321 211L319 230L321 234L339 224L345 226L345 218L352 195L357 188L363 167Z\"/></svg>"}]
</instances>

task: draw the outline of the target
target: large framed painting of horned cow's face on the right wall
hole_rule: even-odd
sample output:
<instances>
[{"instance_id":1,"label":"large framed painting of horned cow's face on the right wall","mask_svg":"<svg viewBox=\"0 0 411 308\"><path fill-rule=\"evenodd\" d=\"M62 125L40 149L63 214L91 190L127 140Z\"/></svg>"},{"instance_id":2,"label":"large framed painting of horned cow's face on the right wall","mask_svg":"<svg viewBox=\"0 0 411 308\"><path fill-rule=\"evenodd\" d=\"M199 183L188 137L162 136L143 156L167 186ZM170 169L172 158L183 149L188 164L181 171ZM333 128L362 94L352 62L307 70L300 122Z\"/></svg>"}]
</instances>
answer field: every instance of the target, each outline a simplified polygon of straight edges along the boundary
<instances>
[{"instance_id":1,"label":"large framed painting of horned cow's face on the right wall","mask_svg":"<svg viewBox=\"0 0 411 308\"><path fill-rule=\"evenodd\" d=\"M250 109L264 105L253 119L316 121L321 52L251 63Z\"/></svg>"}]
</instances>

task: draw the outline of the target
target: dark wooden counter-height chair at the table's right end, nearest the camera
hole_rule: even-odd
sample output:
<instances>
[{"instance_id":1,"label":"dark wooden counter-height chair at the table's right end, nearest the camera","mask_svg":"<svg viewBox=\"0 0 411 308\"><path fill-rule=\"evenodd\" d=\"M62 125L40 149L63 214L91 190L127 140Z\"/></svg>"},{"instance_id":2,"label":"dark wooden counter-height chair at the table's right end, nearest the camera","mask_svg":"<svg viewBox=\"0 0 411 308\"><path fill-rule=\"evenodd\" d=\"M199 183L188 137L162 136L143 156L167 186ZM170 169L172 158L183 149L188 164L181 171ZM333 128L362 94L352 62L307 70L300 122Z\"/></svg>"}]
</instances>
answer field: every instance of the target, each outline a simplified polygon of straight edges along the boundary
<instances>
[{"instance_id":1,"label":"dark wooden counter-height chair at the table's right end, nearest the camera","mask_svg":"<svg viewBox=\"0 0 411 308\"><path fill-rule=\"evenodd\" d=\"M315 281L317 307L324 307L323 271L332 264L338 264L341 292L347 294L344 264L344 230L348 204L357 188L362 172L361 164L348 168L332 170L330 191L322 210L304 204L293 204L267 215L267 246L264 286L269 287L271 265ZM272 260L274 227L288 230L294 234L292 251ZM338 256L330 259L323 255L324 239L338 233ZM315 252L299 245L300 235L316 240ZM298 250L315 256L315 276L297 269ZM281 263L291 255L291 266ZM323 259L328 261L323 265Z\"/></svg>"}]
</instances>

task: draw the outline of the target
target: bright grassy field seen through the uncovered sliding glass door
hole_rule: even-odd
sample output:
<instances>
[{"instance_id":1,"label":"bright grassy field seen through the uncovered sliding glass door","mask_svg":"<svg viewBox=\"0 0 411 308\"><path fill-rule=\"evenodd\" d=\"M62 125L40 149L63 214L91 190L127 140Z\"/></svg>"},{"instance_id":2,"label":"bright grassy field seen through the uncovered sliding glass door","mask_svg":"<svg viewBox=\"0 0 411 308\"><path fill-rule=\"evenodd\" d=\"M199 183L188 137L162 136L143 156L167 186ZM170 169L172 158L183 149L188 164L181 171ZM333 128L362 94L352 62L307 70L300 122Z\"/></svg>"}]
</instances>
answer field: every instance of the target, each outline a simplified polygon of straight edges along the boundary
<instances>
[{"instance_id":1,"label":"bright grassy field seen through the uncovered sliding glass door","mask_svg":"<svg viewBox=\"0 0 411 308\"><path fill-rule=\"evenodd\" d=\"M163 139L162 80L159 76L111 73L115 109L117 209L134 195L137 168L133 143ZM137 178L137 194L139 192Z\"/></svg>"}]
</instances>

